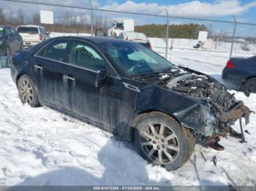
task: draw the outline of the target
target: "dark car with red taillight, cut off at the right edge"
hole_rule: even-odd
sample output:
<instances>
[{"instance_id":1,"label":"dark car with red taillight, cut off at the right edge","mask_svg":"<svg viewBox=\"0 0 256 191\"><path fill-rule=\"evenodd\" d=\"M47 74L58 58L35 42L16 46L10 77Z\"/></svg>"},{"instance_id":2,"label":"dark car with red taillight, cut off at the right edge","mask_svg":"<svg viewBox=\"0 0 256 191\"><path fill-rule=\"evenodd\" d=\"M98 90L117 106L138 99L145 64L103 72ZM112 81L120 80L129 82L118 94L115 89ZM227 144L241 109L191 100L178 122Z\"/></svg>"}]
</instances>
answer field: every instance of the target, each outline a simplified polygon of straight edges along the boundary
<instances>
[{"instance_id":1,"label":"dark car with red taillight, cut off at the right edge","mask_svg":"<svg viewBox=\"0 0 256 191\"><path fill-rule=\"evenodd\" d=\"M222 79L247 96L256 93L256 56L230 58L222 71Z\"/></svg>"}]
</instances>

